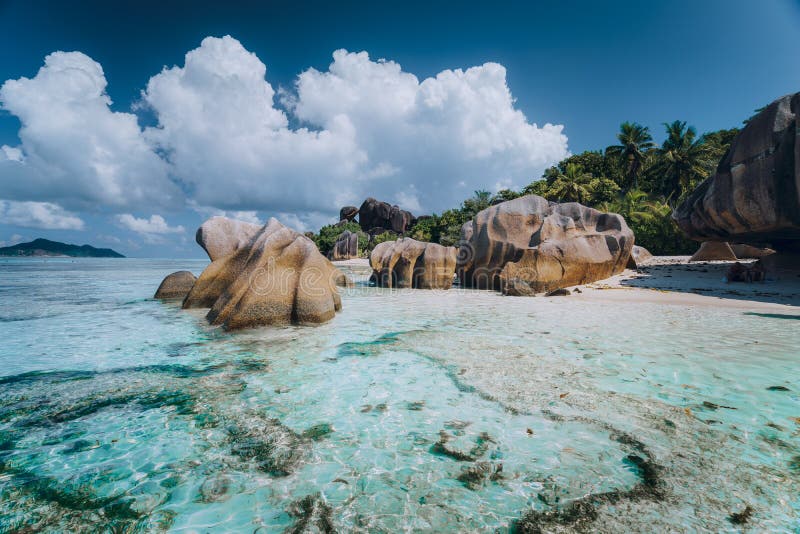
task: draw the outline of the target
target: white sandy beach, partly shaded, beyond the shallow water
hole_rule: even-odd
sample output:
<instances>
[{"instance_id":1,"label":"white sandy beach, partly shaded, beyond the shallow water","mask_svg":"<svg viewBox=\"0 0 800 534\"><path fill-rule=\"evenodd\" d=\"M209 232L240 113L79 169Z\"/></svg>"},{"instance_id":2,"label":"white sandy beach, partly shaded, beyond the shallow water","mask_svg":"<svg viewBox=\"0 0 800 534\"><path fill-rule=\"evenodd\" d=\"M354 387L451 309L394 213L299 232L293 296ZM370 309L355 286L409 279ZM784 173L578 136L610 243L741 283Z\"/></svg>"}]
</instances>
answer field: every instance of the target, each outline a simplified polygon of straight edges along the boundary
<instances>
[{"instance_id":1,"label":"white sandy beach, partly shaded, beyond the shallow water","mask_svg":"<svg viewBox=\"0 0 800 534\"><path fill-rule=\"evenodd\" d=\"M614 303L654 302L687 306L725 306L765 313L800 315L800 270L768 274L765 282L725 282L733 262L694 262L689 256L655 256L638 270L592 284L571 287L571 298ZM745 262L746 263L746 262ZM359 273L369 260L334 262Z\"/></svg>"}]
</instances>

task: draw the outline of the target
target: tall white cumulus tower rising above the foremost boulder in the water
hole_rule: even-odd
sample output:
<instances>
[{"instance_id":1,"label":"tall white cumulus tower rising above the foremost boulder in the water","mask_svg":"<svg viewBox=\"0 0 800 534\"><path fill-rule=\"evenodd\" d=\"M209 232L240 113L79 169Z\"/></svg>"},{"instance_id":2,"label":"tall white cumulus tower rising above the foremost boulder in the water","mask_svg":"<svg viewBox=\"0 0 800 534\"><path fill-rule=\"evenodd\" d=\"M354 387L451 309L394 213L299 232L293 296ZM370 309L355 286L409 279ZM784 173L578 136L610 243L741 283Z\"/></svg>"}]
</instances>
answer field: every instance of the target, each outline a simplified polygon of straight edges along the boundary
<instances>
[{"instance_id":1,"label":"tall white cumulus tower rising above the foremost boulder in the water","mask_svg":"<svg viewBox=\"0 0 800 534\"><path fill-rule=\"evenodd\" d=\"M265 65L231 37L208 37L183 67L153 76L143 94L167 154L199 205L225 210L334 209L366 156L347 120L288 128Z\"/></svg>"}]
</instances>

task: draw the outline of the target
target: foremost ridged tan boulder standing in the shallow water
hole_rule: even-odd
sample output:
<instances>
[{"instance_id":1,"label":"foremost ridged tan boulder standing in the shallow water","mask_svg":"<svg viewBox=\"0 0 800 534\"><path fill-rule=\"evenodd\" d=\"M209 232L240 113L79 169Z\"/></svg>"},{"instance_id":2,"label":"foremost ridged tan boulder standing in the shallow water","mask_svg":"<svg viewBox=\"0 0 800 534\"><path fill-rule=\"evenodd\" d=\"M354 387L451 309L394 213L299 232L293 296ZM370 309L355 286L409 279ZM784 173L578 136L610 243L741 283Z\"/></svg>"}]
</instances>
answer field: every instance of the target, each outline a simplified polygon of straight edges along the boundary
<instances>
[{"instance_id":1,"label":"foremost ridged tan boulder standing in the shallow water","mask_svg":"<svg viewBox=\"0 0 800 534\"><path fill-rule=\"evenodd\" d=\"M225 243L223 235L215 235L215 243L233 252L206 267L184 308L210 307L209 322L225 329L322 323L341 309L336 285L344 285L346 278L308 237L270 219L240 245L240 226L213 227L231 230L233 244Z\"/></svg>"}]
</instances>

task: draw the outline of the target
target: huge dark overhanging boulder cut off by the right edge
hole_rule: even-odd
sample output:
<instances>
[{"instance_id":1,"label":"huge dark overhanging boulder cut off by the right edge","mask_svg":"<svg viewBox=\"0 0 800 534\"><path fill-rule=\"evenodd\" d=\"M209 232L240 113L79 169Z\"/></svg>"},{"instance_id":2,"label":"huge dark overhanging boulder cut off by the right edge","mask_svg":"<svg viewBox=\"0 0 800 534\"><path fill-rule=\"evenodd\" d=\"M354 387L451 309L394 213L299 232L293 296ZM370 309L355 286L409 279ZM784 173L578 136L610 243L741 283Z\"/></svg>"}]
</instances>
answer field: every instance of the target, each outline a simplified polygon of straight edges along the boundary
<instances>
[{"instance_id":1,"label":"huge dark overhanging boulder cut off by the right edge","mask_svg":"<svg viewBox=\"0 0 800 534\"><path fill-rule=\"evenodd\" d=\"M698 241L771 243L779 251L800 240L800 93L750 119L716 173L675 210Z\"/></svg>"}]
</instances>

